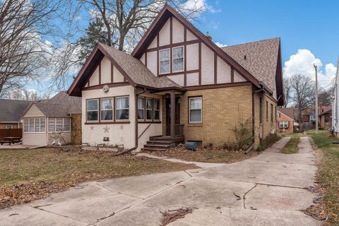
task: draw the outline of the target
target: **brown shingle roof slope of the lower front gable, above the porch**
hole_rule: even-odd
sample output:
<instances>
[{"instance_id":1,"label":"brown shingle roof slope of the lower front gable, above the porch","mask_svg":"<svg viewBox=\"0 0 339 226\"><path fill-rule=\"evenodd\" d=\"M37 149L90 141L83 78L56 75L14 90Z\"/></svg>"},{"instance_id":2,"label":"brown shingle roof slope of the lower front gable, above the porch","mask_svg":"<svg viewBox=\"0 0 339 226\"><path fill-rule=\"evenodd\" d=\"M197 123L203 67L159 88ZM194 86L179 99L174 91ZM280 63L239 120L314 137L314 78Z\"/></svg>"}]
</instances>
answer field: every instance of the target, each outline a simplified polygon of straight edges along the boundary
<instances>
[{"instance_id":1,"label":"brown shingle roof slope of the lower front gable, above the porch","mask_svg":"<svg viewBox=\"0 0 339 226\"><path fill-rule=\"evenodd\" d=\"M143 63L132 57L130 54L126 54L118 49L114 49L105 44L99 43L111 56L114 61L117 62L121 69L123 69L131 80L138 85L146 85L153 88L169 88L169 87L178 87L181 88L180 85L174 83L174 81L170 80L167 77L156 77L152 72L147 68L147 66L143 65Z\"/></svg>"}]
</instances>

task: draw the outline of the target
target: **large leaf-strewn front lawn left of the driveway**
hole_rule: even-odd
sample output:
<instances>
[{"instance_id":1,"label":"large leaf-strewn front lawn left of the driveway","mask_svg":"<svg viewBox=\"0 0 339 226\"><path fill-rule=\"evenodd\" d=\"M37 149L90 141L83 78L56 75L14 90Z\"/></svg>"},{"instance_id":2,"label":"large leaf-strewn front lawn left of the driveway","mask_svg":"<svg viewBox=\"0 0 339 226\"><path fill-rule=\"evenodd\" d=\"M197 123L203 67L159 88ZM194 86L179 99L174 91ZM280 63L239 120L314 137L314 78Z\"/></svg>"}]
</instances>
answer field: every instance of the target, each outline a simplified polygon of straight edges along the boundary
<instances>
[{"instance_id":1,"label":"large leaf-strewn front lawn left of the driveway","mask_svg":"<svg viewBox=\"0 0 339 226\"><path fill-rule=\"evenodd\" d=\"M0 150L0 208L44 198L80 182L196 168L148 157L58 150Z\"/></svg>"}]
</instances>

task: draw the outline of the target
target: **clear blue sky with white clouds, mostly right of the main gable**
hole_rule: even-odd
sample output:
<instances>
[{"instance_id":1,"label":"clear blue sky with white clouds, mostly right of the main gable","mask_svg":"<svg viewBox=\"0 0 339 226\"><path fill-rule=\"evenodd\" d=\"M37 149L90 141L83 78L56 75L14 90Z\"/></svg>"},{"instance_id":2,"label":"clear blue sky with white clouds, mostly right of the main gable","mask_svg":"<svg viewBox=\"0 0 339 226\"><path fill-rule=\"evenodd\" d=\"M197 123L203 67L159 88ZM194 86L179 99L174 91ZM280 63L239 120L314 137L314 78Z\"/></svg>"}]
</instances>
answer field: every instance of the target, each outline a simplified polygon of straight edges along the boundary
<instances>
[{"instance_id":1,"label":"clear blue sky with white clouds, mostly right of the main gable","mask_svg":"<svg viewBox=\"0 0 339 226\"><path fill-rule=\"evenodd\" d=\"M205 6L193 23L220 46L280 37L284 77L302 73L314 79L316 64L319 85L333 85L339 55L338 0L188 0L186 4ZM78 21L84 27L85 14ZM44 42L49 40L52 37ZM44 83L28 85L33 90L43 87Z\"/></svg>"}]
</instances>

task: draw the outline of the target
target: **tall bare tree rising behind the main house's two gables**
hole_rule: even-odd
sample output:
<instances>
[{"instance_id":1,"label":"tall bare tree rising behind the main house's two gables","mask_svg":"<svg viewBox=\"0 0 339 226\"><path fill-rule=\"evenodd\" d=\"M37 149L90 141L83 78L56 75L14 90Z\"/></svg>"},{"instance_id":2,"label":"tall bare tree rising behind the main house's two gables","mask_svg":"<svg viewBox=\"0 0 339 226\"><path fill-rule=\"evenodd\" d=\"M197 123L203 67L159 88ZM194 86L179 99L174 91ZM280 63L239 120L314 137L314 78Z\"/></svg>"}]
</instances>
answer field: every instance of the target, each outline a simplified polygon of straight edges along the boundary
<instances>
[{"instance_id":1,"label":"tall bare tree rising behind the main house's two gables","mask_svg":"<svg viewBox=\"0 0 339 226\"><path fill-rule=\"evenodd\" d=\"M58 87L69 84L71 76L74 76L71 71L77 71L98 41L121 51L131 52L165 4L170 4L190 20L194 20L198 13L206 9L206 5L198 0L76 1L76 4L79 3L90 12L92 21L83 30L81 38L66 44L59 54L62 57L56 60L57 66L54 70L57 70L54 71L53 83ZM74 15L72 17L76 18Z\"/></svg>"}]
</instances>

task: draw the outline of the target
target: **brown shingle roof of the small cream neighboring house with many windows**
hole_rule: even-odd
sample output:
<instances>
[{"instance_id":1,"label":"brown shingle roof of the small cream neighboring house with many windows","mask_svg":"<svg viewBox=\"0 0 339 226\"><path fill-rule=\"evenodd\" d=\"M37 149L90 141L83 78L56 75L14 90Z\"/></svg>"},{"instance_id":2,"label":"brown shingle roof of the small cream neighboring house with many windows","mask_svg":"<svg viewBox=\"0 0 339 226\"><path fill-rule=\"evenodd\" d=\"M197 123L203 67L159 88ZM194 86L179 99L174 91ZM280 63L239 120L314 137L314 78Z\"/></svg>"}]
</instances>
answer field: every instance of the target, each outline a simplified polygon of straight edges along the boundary
<instances>
[{"instance_id":1,"label":"brown shingle roof of the small cream neighboring house with many windows","mask_svg":"<svg viewBox=\"0 0 339 226\"><path fill-rule=\"evenodd\" d=\"M81 113L81 97L71 97L61 91L44 102L34 103L46 117L68 117Z\"/></svg>"}]
</instances>

